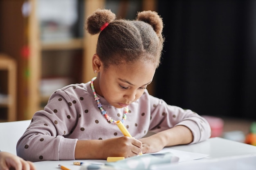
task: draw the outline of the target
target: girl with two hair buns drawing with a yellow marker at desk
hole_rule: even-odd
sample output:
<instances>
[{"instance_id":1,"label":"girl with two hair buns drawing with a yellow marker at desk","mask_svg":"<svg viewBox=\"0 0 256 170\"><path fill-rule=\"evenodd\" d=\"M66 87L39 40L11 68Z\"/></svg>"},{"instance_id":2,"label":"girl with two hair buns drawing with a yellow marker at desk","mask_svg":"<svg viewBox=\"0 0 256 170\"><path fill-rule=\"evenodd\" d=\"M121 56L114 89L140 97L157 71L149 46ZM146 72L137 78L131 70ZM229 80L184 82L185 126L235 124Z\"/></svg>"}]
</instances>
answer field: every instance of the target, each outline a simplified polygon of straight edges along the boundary
<instances>
[{"instance_id":1,"label":"girl with two hair buns drawing with a yellow marker at desk","mask_svg":"<svg viewBox=\"0 0 256 170\"><path fill-rule=\"evenodd\" d=\"M203 117L170 106L146 90L164 42L162 18L156 12L139 12L137 20L116 20L110 10L98 9L87 18L85 28L92 35L100 33L92 56L97 77L52 94L18 141L20 157L30 161L132 157L210 137ZM117 120L133 138L124 137ZM148 131L155 134L144 137Z\"/></svg>"}]
</instances>

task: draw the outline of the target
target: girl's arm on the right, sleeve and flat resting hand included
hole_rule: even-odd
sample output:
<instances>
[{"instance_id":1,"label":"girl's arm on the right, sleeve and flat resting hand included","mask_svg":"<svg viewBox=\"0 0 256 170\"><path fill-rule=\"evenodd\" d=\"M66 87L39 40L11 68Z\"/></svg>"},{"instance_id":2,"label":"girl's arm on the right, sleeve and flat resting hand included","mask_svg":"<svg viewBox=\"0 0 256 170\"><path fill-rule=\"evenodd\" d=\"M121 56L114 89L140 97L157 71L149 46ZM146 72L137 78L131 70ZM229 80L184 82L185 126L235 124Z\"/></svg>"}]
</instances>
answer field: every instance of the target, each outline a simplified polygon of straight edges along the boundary
<instances>
[{"instance_id":1,"label":"girl's arm on the right, sleeve and flat resting hand included","mask_svg":"<svg viewBox=\"0 0 256 170\"><path fill-rule=\"evenodd\" d=\"M206 119L191 110L166 104L162 99L148 95L151 119L150 137L139 139L143 153L162 150L165 146L195 144L209 139L211 128Z\"/></svg>"}]
</instances>

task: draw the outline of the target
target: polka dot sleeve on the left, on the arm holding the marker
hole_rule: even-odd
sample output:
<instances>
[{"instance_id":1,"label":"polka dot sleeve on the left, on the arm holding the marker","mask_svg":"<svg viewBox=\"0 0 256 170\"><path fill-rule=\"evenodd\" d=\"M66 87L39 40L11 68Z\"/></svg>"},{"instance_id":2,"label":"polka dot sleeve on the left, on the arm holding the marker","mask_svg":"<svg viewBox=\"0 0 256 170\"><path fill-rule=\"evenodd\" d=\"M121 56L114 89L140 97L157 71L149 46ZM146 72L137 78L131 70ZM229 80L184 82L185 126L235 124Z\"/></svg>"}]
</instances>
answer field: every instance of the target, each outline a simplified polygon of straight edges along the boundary
<instances>
[{"instance_id":1,"label":"polka dot sleeve on the left, on the arm holding the marker","mask_svg":"<svg viewBox=\"0 0 256 170\"><path fill-rule=\"evenodd\" d=\"M67 138L78 117L74 101L64 91L56 91L45 109L34 114L17 143L17 155L33 162L74 160L77 139Z\"/></svg>"}]
</instances>

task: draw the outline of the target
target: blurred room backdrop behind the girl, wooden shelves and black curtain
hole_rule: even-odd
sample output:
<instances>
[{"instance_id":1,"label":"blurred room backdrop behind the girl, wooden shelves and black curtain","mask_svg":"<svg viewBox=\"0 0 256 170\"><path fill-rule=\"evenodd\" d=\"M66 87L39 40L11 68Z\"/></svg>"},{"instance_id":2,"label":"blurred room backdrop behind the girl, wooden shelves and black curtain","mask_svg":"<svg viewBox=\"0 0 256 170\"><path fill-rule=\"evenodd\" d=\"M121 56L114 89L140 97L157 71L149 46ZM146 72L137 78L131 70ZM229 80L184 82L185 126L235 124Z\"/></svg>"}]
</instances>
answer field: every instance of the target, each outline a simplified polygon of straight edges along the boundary
<instances>
[{"instance_id":1,"label":"blurred room backdrop behind the girl, wooden shelves and black curtain","mask_svg":"<svg viewBox=\"0 0 256 170\"><path fill-rule=\"evenodd\" d=\"M256 0L0 0L0 120L31 119L49 95L94 76L98 8L117 18L157 11L165 36L150 94L243 141L256 121ZM168 75L168 76L166 76Z\"/></svg>"}]
</instances>

